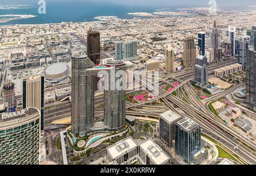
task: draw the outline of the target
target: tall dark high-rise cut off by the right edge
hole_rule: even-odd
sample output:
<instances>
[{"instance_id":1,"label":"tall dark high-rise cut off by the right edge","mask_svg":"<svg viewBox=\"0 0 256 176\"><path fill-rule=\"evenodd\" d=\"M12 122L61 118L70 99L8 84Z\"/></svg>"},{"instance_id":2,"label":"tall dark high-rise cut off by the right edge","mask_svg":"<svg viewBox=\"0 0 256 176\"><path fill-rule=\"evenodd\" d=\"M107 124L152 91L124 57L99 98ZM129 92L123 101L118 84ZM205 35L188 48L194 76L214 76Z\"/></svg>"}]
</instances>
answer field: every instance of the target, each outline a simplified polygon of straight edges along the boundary
<instances>
[{"instance_id":1,"label":"tall dark high-rise cut off by the right edge","mask_svg":"<svg viewBox=\"0 0 256 176\"><path fill-rule=\"evenodd\" d=\"M246 102L255 110L256 107L256 52L252 45L246 51Z\"/></svg>"}]
</instances>

